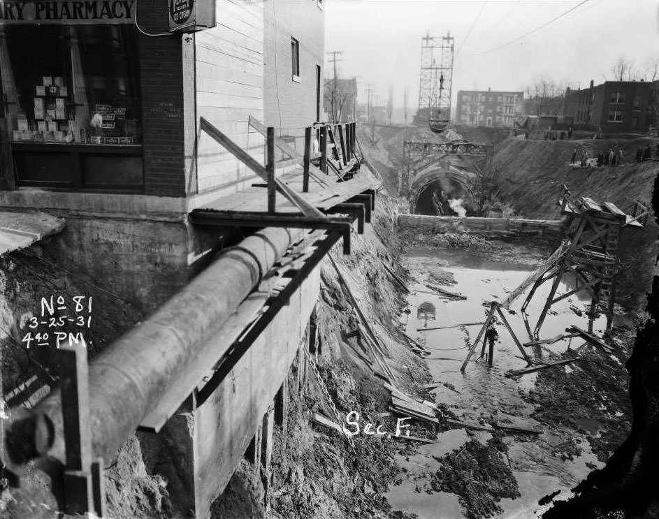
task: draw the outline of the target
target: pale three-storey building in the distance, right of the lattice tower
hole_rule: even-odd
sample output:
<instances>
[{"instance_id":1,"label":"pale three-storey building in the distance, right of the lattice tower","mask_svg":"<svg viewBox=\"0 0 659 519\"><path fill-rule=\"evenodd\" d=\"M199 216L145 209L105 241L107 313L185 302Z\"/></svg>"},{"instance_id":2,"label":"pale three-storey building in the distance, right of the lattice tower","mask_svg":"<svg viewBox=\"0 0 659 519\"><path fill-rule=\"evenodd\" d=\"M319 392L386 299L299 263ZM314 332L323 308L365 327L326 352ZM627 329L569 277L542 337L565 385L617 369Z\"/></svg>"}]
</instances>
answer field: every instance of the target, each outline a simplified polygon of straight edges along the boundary
<instances>
[{"instance_id":1,"label":"pale three-storey building in the distance, right of the lattice tower","mask_svg":"<svg viewBox=\"0 0 659 519\"><path fill-rule=\"evenodd\" d=\"M456 122L473 126L514 126L522 116L523 92L460 90Z\"/></svg>"}]
</instances>

